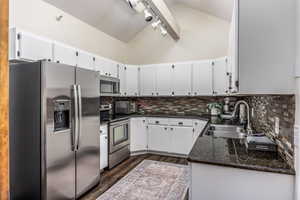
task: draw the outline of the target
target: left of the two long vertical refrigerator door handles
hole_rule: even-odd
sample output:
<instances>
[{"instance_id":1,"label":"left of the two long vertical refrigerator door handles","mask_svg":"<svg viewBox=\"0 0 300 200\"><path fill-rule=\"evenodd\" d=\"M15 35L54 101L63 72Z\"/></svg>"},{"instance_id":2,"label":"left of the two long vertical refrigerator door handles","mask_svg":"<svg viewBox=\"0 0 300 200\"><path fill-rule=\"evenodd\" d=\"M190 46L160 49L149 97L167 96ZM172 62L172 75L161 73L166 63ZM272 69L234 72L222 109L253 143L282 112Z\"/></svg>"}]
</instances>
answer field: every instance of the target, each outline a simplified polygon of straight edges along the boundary
<instances>
[{"instance_id":1,"label":"left of the two long vertical refrigerator door handles","mask_svg":"<svg viewBox=\"0 0 300 200\"><path fill-rule=\"evenodd\" d=\"M78 91L77 91L77 86L72 85L72 90L73 90L73 98L74 98L74 125L73 125L73 131L72 131L72 150L77 151L77 139L78 139Z\"/></svg>"}]
</instances>

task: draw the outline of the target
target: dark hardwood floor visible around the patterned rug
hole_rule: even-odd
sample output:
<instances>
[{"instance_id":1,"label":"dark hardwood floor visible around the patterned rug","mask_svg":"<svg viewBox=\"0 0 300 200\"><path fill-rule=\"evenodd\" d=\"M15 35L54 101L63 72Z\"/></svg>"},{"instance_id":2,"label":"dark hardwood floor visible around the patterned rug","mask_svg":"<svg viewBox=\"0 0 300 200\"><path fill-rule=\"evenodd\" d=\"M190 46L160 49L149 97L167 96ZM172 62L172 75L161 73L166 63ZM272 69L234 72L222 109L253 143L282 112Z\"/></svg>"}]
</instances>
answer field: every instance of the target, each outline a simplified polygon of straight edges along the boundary
<instances>
[{"instance_id":1,"label":"dark hardwood floor visible around the patterned rug","mask_svg":"<svg viewBox=\"0 0 300 200\"><path fill-rule=\"evenodd\" d=\"M116 182L118 182L122 177L124 177L128 172L130 172L133 168L135 168L139 163L141 163L145 159L170 162L182 165L188 164L187 160L184 158L159 156L152 154L132 156L129 159L122 162L120 165L116 166L115 168L111 170L105 170L101 174L100 184L94 189L92 189L90 192L88 192L80 200L97 199L97 197L99 197L102 193L108 190L111 186L113 186Z\"/></svg>"}]
</instances>

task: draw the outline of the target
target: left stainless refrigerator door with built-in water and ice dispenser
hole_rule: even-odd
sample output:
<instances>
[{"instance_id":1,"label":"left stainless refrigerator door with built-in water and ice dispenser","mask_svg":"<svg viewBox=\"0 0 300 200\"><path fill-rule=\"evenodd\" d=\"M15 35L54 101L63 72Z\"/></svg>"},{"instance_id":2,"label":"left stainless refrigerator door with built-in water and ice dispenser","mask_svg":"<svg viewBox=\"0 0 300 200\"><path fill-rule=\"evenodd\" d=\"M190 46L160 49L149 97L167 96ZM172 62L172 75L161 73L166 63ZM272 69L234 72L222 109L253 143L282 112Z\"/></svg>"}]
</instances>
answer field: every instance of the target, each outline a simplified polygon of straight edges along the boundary
<instances>
[{"instance_id":1,"label":"left stainless refrigerator door with built-in water and ice dispenser","mask_svg":"<svg viewBox=\"0 0 300 200\"><path fill-rule=\"evenodd\" d=\"M42 62L43 193L45 199L75 199L75 153L72 149L72 66ZM74 147L73 147L74 148Z\"/></svg>"}]
</instances>

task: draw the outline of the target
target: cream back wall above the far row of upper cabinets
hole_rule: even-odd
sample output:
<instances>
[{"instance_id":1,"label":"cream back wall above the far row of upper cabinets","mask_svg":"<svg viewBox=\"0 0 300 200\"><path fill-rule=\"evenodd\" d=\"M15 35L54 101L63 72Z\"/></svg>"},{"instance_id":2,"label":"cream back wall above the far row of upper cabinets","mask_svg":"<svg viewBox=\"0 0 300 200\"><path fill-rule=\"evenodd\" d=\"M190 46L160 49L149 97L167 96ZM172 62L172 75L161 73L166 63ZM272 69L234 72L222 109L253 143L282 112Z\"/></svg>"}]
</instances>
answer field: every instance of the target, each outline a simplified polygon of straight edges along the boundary
<instances>
[{"instance_id":1,"label":"cream back wall above the far row of upper cabinets","mask_svg":"<svg viewBox=\"0 0 300 200\"><path fill-rule=\"evenodd\" d=\"M175 4L170 8L181 28L181 39L162 37L151 25L129 42L132 64L180 62L223 57L228 52L229 22Z\"/></svg>"}]
</instances>

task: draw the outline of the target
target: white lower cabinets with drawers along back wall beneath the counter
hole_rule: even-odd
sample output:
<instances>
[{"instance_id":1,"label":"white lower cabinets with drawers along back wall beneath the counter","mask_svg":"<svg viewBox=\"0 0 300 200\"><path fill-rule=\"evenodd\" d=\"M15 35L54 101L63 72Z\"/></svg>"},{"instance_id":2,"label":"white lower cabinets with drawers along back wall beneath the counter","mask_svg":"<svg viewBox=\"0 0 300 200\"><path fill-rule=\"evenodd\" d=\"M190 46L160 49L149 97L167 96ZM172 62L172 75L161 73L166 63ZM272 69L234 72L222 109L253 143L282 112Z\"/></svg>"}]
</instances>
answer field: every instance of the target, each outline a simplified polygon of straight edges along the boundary
<instances>
[{"instance_id":1,"label":"white lower cabinets with drawers along back wall beneath the counter","mask_svg":"<svg viewBox=\"0 0 300 200\"><path fill-rule=\"evenodd\" d=\"M137 124L133 123L135 122L132 121L132 127L136 127ZM146 119L148 150L188 155L206 124L207 121L192 119L148 118ZM132 137L138 134L133 133L135 129L131 130Z\"/></svg>"}]
</instances>

